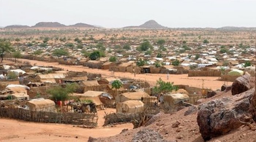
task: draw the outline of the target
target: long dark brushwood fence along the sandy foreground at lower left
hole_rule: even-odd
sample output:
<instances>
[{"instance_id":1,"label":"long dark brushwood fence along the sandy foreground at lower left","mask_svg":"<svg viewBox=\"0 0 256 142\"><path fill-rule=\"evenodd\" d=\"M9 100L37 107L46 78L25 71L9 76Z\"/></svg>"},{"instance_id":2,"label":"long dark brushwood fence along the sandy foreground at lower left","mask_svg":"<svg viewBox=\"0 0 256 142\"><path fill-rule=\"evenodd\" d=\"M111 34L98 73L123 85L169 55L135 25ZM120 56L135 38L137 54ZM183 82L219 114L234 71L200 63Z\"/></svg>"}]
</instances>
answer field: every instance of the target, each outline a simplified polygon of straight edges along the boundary
<instances>
[{"instance_id":1,"label":"long dark brushwood fence along the sandy foreground at lower left","mask_svg":"<svg viewBox=\"0 0 256 142\"><path fill-rule=\"evenodd\" d=\"M98 116L94 114L31 111L4 107L0 107L0 116L32 122L84 125L91 128L97 127L98 121Z\"/></svg>"}]
</instances>

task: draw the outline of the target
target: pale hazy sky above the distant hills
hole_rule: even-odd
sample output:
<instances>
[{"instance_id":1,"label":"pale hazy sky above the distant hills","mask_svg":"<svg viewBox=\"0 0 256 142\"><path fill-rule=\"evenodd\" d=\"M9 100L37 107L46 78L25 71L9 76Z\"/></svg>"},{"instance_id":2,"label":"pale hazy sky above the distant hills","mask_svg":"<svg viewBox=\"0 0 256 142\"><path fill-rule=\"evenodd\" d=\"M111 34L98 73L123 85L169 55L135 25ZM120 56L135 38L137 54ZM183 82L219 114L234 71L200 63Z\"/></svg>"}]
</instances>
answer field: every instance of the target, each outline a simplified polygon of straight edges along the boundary
<instances>
[{"instance_id":1,"label":"pale hazy sky above the distant hills","mask_svg":"<svg viewBox=\"0 0 256 142\"><path fill-rule=\"evenodd\" d=\"M82 22L118 28L151 19L167 27L256 27L256 0L0 0L0 26Z\"/></svg>"}]
</instances>

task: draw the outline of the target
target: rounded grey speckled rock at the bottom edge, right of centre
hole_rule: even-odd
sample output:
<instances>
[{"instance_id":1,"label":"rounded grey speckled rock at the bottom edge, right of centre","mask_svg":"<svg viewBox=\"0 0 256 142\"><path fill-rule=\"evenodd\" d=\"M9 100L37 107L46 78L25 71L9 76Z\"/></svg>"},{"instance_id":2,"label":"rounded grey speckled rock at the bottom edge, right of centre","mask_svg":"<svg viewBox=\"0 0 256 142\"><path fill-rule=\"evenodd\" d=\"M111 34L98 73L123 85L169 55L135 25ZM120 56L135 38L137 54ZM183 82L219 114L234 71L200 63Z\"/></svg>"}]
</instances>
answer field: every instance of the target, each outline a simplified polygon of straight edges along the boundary
<instances>
[{"instance_id":1,"label":"rounded grey speckled rock at the bottom edge, right of centre","mask_svg":"<svg viewBox=\"0 0 256 142\"><path fill-rule=\"evenodd\" d=\"M149 128L143 128L132 138L132 142L167 142L163 136Z\"/></svg>"}]
</instances>

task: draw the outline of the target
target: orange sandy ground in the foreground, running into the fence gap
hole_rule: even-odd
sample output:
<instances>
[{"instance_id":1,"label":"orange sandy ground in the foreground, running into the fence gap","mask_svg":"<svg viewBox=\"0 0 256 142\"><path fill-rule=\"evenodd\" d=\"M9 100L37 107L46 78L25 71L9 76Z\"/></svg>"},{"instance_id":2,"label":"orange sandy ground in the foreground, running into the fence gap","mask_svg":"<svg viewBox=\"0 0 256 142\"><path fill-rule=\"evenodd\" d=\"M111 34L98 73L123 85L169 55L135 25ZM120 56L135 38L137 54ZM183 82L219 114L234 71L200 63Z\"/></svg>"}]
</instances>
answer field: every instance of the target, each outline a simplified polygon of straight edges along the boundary
<instances>
[{"instance_id":1,"label":"orange sandy ground in the foreground, running into the fence gap","mask_svg":"<svg viewBox=\"0 0 256 142\"><path fill-rule=\"evenodd\" d=\"M80 128L69 124L34 123L14 119L0 119L0 142L87 142L93 138L109 137L119 134L124 128L132 129L133 125L120 124L114 127L102 127L103 116L113 108L98 111L98 128ZM77 138L76 138L77 137Z\"/></svg>"}]
</instances>

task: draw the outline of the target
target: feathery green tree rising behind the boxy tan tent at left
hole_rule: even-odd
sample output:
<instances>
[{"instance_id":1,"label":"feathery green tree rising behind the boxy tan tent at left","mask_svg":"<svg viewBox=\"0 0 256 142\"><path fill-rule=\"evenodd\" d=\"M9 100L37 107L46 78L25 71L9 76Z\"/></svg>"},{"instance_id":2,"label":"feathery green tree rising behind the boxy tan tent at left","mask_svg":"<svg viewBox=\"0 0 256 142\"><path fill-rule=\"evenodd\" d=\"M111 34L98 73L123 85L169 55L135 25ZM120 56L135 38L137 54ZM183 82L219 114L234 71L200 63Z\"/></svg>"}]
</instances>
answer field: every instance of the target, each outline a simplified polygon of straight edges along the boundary
<instances>
[{"instance_id":1,"label":"feathery green tree rising behind the boxy tan tent at left","mask_svg":"<svg viewBox=\"0 0 256 142\"><path fill-rule=\"evenodd\" d=\"M64 101L68 100L69 95L76 91L78 85L75 83L67 84L64 88L61 86L56 86L54 88L46 90L47 93L51 95L52 100L55 102L62 101L62 105L64 105Z\"/></svg>"}]
</instances>

